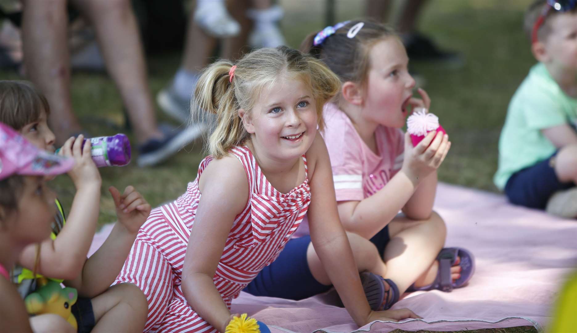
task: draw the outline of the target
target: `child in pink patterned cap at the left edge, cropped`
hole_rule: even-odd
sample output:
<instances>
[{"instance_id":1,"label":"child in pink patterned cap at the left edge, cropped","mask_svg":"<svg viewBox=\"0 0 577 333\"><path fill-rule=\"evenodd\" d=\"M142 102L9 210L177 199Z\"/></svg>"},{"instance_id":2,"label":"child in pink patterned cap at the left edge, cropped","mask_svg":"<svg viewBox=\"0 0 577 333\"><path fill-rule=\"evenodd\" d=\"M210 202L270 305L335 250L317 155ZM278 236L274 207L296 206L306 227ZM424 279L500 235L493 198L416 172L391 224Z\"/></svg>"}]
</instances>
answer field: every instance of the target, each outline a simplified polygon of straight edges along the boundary
<instances>
[{"instance_id":1,"label":"child in pink patterned cap at the left edge, cropped","mask_svg":"<svg viewBox=\"0 0 577 333\"><path fill-rule=\"evenodd\" d=\"M72 169L74 161L40 151L10 126L0 123L0 323L6 332L74 332L62 317L28 320L9 271L24 248L50 237L54 192L45 176Z\"/></svg>"}]
</instances>

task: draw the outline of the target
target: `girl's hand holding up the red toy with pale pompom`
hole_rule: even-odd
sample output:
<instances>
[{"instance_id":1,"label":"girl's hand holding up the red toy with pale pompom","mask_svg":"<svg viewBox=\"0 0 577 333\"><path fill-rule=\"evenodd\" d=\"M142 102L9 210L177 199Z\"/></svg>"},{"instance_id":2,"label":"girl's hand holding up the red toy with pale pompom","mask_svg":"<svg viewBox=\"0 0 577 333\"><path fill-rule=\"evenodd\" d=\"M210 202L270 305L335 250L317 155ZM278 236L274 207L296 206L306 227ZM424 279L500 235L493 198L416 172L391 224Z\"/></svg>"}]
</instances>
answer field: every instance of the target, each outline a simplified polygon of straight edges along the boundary
<instances>
[{"instance_id":1,"label":"girl's hand holding up the red toy with pale pompom","mask_svg":"<svg viewBox=\"0 0 577 333\"><path fill-rule=\"evenodd\" d=\"M445 160L451 148L449 136L441 132L429 132L416 147L413 147L411 135L404 134L404 160L401 172L417 186Z\"/></svg>"}]
</instances>

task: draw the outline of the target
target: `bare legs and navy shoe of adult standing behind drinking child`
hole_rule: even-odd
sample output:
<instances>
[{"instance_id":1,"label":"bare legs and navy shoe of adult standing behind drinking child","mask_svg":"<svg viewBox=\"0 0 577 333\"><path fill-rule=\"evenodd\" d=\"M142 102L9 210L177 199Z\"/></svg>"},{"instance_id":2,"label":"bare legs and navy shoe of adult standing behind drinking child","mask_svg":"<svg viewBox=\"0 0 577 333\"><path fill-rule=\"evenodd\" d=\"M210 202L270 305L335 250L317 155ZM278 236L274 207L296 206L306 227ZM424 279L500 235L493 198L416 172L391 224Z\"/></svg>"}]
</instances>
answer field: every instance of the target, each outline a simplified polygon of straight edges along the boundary
<instances>
[{"instance_id":1,"label":"bare legs and navy shoe of adult standing behind drinking child","mask_svg":"<svg viewBox=\"0 0 577 333\"><path fill-rule=\"evenodd\" d=\"M159 126L147 83L143 48L129 0L23 1L22 36L27 76L53 106L49 117L57 143L83 132L70 96L68 5L92 25L106 68L133 126L140 166L162 162L201 134L197 127Z\"/></svg>"}]
</instances>

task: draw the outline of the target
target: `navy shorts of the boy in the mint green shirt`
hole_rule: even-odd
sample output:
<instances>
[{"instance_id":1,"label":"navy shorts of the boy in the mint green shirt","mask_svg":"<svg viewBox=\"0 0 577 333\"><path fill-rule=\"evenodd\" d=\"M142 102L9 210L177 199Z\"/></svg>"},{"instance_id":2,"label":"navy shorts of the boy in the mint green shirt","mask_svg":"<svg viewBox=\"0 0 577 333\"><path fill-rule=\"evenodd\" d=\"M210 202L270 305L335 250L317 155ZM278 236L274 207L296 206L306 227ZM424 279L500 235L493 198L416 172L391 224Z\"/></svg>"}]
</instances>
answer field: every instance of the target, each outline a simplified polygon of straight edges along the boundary
<instances>
[{"instance_id":1,"label":"navy shorts of the boy in the mint green shirt","mask_svg":"<svg viewBox=\"0 0 577 333\"><path fill-rule=\"evenodd\" d=\"M549 198L557 191L575 186L573 182L560 182L554 169L554 157L512 174L505 185L509 201L529 208L545 209Z\"/></svg>"}]
</instances>

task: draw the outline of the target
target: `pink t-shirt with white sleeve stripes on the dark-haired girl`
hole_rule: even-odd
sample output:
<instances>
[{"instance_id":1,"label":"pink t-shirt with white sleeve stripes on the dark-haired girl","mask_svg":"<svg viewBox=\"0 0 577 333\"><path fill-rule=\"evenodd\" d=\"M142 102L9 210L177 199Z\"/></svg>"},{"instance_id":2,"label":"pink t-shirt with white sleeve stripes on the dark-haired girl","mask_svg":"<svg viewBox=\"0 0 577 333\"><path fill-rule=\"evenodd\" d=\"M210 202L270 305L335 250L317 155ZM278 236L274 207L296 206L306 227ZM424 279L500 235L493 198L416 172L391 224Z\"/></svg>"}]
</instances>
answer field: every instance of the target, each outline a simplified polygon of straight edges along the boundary
<instances>
[{"instance_id":1,"label":"pink t-shirt with white sleeve stripes on the dark-haired girl","mask_svg":"<svg viewBox=\"0 0 577 333\"><path fill-rule=\"evenodd\" d=\"M325 104L323 117L325 129L321 134L331 158L336 201L361 201L372 196L402 167L402 130L378 126L374 136L379 154L374 154L357 133L351 119L335 104ZM305 216L293 237L308 234Z\"/></svg>"}]
</instances>

